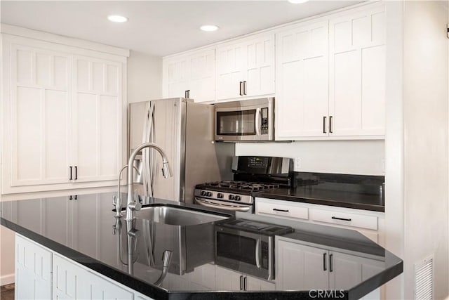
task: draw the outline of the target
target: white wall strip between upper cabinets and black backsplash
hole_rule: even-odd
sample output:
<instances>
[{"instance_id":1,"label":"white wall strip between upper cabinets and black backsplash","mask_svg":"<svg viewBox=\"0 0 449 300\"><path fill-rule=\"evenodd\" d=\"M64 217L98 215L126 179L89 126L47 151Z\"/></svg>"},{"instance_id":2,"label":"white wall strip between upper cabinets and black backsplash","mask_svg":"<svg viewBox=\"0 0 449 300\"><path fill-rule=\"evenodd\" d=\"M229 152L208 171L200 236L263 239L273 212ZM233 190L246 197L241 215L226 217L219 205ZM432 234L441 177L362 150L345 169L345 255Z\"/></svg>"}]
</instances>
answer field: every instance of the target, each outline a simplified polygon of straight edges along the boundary
<instances>
[{"instance_id":1,"label":"white wall strip between upper cabinets and black backsplash","mask_svg":"<svg viewBox=\"0 0 449 300\"><path fill-rule=\"evenodd\" d=\"M295 171L384 175L384 141L236 143L236 155L299 157Z\"/></svg>"}]
</instances>

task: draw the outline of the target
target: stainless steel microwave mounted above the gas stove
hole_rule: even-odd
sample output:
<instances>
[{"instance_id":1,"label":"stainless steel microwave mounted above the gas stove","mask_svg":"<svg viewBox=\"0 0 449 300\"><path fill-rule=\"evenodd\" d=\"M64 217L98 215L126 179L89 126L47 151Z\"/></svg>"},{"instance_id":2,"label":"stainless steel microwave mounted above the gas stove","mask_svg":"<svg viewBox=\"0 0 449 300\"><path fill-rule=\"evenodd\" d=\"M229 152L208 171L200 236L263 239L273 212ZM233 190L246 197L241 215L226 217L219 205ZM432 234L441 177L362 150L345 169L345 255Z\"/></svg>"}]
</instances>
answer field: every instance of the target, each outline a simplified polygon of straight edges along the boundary
<instances>
[{"instance_id":1,"label":"stainless steel microwave mounted above the gas stove","mask_svg":"<svg viewBox=\"0 0 449 300\"><path fill-rule=\"evenodd\" d=\"M215 141L273 141L274 98L215 104Z\"/></svg>"}]
</instances>

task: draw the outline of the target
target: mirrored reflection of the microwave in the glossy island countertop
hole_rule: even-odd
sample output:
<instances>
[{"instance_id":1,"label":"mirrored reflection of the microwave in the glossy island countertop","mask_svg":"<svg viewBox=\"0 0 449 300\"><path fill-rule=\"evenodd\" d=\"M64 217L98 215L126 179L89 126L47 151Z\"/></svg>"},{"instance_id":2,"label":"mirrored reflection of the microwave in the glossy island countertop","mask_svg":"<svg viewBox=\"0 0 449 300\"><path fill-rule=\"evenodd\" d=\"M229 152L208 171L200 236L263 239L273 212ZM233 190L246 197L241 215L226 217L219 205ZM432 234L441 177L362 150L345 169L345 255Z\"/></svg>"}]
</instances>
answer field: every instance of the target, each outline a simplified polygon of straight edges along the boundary
<instances>
[{"instance_id":1,"label":"mirrored reflection of the microwave in the glossy island countertop","mask_svg":"<svg viewBox=\"0 0 449 300\"><path fill-rule=\"evenodd\" d=\"M274 280L273 238L215 226L215 263L232 270Z\"/></svg>"}]
</instances>

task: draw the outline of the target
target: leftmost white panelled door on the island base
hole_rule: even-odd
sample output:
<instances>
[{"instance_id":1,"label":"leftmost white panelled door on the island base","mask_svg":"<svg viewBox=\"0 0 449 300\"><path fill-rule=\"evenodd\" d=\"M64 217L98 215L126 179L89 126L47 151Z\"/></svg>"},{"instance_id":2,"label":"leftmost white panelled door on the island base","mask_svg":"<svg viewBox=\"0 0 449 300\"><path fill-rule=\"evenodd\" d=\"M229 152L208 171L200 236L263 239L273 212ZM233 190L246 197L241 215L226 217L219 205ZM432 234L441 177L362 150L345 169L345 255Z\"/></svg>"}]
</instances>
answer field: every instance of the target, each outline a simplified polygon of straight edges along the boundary
<instances>
[{"instance_id":1,"label":"leftmost white panelled door on the island base","mask_svg":"<svg viewBox=\"0 0 449 300\"><path fill-rule=\"evenodd\" d=\"M51 299L51 255L15 235L15 299Z\"/></svg>"}]
</instances>

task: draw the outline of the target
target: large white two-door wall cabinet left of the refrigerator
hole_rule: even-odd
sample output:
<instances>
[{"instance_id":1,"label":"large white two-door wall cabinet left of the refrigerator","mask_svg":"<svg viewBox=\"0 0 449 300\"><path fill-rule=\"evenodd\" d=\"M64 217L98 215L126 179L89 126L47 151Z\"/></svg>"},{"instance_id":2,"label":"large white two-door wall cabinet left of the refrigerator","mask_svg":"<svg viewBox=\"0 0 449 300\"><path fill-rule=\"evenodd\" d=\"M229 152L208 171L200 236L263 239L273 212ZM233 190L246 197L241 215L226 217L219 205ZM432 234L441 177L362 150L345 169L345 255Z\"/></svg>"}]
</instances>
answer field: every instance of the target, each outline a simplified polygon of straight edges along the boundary
<instances>
[{"instance_id":1,"label":"large white two-door wall cabinet left of the refrigerator","mask_svg":"<svg viewBox=\"0 0 449 300\"><path fill-rule=\"evenodd\" d=\"M1 39L8 74L1 89L2 194L113 185L122 165L126 59Z\"/></svg>"}]
</instances>

